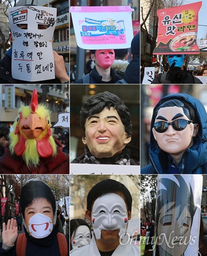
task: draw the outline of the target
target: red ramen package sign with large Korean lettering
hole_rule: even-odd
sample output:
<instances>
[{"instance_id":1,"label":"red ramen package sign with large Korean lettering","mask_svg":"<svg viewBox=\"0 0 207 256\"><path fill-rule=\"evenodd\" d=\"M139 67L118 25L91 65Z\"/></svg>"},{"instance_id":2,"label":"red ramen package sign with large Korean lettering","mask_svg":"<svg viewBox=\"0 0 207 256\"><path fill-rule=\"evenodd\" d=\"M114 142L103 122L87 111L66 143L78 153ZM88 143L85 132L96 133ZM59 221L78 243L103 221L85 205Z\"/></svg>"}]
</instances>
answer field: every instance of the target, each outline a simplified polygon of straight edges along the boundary
<instances>
[{"instance_id":1,"label":"red ramen package sign with large Korean lettering","mask_svg":"<svg viewBox=\"0 0 207 256\"><path fill-rule=\"evenodd\" d=\"M157 10L157 46L153 54L199 54L196 43L202 2Z\"/></svg>"}]
</instances>

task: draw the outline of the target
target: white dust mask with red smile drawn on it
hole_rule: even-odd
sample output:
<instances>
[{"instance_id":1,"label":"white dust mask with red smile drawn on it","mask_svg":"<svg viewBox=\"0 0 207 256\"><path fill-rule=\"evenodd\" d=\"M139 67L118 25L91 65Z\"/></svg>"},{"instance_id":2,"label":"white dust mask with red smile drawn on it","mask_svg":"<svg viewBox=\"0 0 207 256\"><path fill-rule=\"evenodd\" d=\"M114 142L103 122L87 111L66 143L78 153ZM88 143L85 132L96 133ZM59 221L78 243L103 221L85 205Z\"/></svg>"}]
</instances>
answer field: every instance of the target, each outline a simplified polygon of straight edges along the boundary
<instances>
[{"instance_id":1,"label":"white dust mask with red smile drawn on it","mask_svg":"<svg viewBox=\"0 0 207 256\"><path fill-rule=\"evenodd\" d=\"M48 216L35 214L29 219L28 233L35 238L47 237L52 230L53 223Z\"/></svg>"}]
</instances>

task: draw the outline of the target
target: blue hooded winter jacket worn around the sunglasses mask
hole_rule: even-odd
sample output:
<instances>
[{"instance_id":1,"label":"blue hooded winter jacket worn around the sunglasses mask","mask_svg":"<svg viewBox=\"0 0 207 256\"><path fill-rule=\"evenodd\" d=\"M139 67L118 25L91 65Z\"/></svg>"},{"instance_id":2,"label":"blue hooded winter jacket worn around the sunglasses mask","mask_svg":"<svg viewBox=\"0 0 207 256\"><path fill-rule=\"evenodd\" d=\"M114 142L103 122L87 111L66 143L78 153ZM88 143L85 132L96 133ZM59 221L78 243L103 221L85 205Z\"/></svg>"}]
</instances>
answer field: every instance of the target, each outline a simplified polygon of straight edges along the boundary
<instances>
[{"instance_id":1,"label":"blue hooded winter jacket worn around the sunglasses mask","mask_svg":"<svg viewBox=\"0 0 207 256\"><path fill-rule=\"evenodd\" d=\"M141 174L166 174L168 154L162 151L154 139L152 128L156 118L157 108L169 99L184 99L197 113L200 120L199 132L194 138L194 145L187 148L179 164L178 174L207 174L207 113L203 104L195 97L185 93L170 94L162 98L154 108L150 130L150 165L141 168Z\"/></svg>"}]
</instances>

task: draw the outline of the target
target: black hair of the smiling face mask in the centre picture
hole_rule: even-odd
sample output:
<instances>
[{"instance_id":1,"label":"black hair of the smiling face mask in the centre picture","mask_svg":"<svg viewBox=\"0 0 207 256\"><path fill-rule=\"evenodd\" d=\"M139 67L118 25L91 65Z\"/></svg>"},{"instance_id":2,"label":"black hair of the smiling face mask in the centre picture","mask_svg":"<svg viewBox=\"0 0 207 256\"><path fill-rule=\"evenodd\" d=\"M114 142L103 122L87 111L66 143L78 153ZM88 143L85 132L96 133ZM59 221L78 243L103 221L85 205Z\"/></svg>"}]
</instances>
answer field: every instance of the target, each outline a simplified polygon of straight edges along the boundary
<instances>
[{"instance_id":1,"label":"black hair of the smiling face mask in the centre picture","mask_svg":"<svg viewBox=\"0 0 207 256\"><path fill-rule=\"evenodd\" d=\"M104 108L117 110L120 119L125 127L125 132L128 136L132 133L132 123L129 109L122 100L113 93L101 92L91 97L83 104L80 110L81 129L83 137L85 137L85 122L86 119L94 114L100 113Z\"/></svg>"}]
</instances>

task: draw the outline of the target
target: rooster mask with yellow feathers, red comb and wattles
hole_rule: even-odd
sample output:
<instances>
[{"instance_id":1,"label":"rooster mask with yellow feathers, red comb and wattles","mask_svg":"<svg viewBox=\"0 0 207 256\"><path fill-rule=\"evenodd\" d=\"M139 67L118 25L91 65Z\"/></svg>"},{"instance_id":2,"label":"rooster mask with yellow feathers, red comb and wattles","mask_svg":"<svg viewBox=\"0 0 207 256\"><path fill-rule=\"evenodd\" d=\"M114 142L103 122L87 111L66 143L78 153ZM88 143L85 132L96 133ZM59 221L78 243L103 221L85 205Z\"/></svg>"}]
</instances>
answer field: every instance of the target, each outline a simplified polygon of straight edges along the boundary
<instances>
[{"instance_id":1,"label":"rooster mask with yellow feathers, red comb and wattles","mask_svg":"<svg viewBox=\"0 0 207 256\"><path fill-rule=\"evenodd\" d=\"M56 154L56 144L52 137L50 111L38 104L37 90L32 94L30 106L22 105L10 133L11 154L23 157L27 166L37 166L39 158Z\"/></svg>"}]
</instances>

